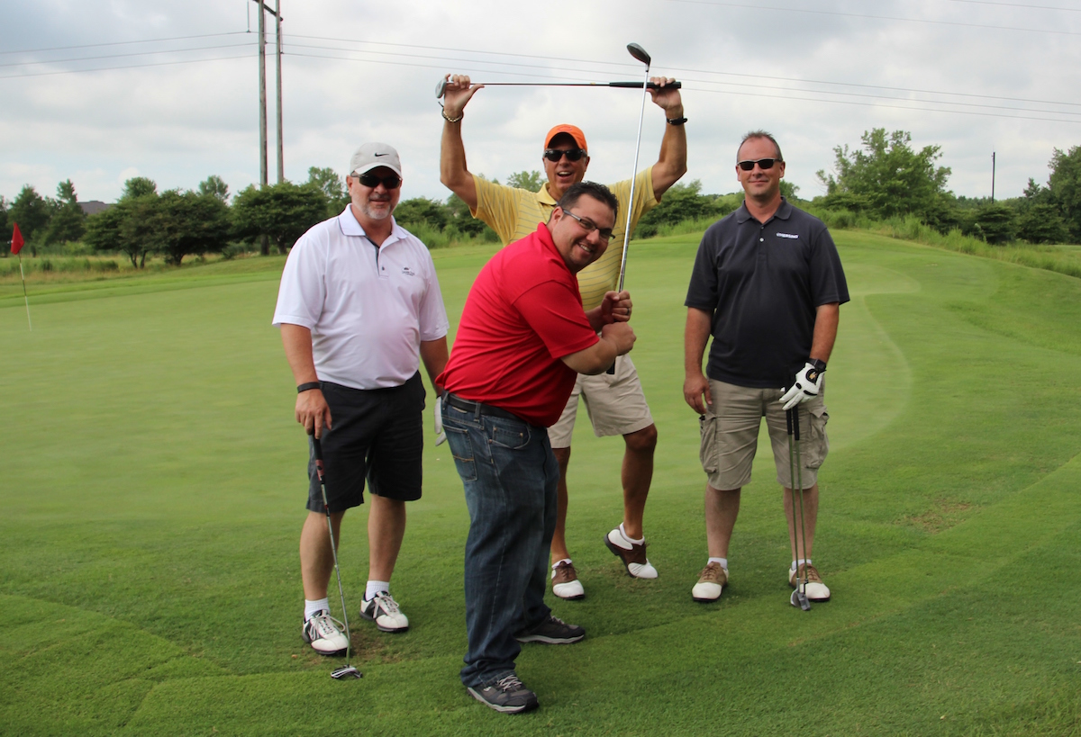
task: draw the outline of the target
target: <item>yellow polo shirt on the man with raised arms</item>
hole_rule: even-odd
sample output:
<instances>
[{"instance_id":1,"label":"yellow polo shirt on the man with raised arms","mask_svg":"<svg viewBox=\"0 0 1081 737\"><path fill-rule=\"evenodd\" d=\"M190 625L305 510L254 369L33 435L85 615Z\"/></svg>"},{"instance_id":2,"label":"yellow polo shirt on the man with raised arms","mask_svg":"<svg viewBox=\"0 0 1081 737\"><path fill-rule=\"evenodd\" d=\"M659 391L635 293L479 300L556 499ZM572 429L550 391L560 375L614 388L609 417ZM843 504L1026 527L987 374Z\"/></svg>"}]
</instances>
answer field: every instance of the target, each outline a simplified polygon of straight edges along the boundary
<instances>
[{"instance_id":1,"label":"yellow polo shirt on the man with raised arms","mask_svg":"<svg viewBox=\"0 0 1081 737\"><path fill-rule=\"evenodd\" d=\"M537 224L547 223L556 206L556 200L548 193L548 187L539 191L517 189L494 184L473 175L477 187L477 210L472 216L488 223L506 245L521 240L537 229ZM612 229L612 240L604 255L578 272L578 290L582 306L591 310L604 299L619 283L619 264L623 263L623 231L627 225L627 206L630 201L630 179L609 185L609 189L619 201L619 213ZM630 218L630 231L635 232L638 218L657 204L653 195L653 166L638 173L635 179L635 207Z\"/></svg>"}]
</instances>

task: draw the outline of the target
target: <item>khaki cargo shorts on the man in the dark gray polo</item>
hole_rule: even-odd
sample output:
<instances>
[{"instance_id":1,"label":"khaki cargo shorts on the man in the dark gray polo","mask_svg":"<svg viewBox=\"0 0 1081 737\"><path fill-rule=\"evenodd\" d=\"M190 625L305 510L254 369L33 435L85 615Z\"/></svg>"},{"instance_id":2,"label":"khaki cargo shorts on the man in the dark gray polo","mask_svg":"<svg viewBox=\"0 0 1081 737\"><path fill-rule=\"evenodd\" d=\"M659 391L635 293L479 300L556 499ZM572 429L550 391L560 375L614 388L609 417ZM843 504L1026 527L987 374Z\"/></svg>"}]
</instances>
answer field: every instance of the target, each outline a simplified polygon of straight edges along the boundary
<instances>
[{"instance_id":1,"label":"khaki cargo shorts on the man in the dark gray polo","mask_svg":"<svg viewBox=\"0 0 1081 737\"><path fill-rule=\"evenodd\" d=\"M788 468L788 424L782 408L782 389L753 389L737 387L709 379L712 406L706 405L702 426L702 468L709 478L709 485L717 490L734 490L750 481L751 464L758 450L758 431L765 417L773 446L773 464L777 467L777 483L792 488ZM826 387L814 399L798 405L800 413L800 460L803 467L803 488L818 481L818 468L829 453L826 423L829 414L823 396Z\"/></svg>"}]
</instances>

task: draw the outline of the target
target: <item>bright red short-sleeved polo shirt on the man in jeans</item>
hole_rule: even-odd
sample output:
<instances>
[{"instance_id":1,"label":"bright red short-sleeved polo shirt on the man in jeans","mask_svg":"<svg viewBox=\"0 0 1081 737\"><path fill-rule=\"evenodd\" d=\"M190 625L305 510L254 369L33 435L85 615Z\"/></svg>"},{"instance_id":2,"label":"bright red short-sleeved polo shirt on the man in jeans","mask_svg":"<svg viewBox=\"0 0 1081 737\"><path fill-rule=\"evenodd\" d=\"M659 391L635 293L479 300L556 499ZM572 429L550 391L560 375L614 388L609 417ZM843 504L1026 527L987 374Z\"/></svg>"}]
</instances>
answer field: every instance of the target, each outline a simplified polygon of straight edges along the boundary
<instances>
[{"instance_id":1,"label":"bright red short-sleeved polo shirt on the man in jeans","mask_svg":"<svg viewBox=\"0 0 1081 737\"><path fill-rule=\"evenodd\" d=\"M577 280L540 224L477 276L437 384L550 427L577 376L560 359L599 339L582 309Z\"/></svg>"}]
</instances>

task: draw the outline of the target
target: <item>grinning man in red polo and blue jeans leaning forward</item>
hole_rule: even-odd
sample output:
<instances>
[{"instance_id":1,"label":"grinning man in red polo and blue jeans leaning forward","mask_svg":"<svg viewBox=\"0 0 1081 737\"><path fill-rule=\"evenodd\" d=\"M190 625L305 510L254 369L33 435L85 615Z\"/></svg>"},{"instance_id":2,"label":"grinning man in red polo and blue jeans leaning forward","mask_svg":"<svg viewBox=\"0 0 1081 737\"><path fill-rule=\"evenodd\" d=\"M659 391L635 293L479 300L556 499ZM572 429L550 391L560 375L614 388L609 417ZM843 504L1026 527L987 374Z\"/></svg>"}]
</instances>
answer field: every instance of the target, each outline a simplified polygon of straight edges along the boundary
<instances>
[{"instance_id":1,"label":"grinning man in red polo and blue jeans leaning forward","mask_svg":"<svg viewBox=\"0 0 1081 737\"><path fill-rule=\"evenodd\" d=\"M629 295L609 292L586 312L575 279L604 254L617 210L603 185L575 184L548 223L496 253L473 282L436 379L470 518L462 682L496 711L537 706L515 673L519 643L585 636L544 603L559 482L547 428L577 374L603 373L635 343Z\"/></svg>"}]
</instances>

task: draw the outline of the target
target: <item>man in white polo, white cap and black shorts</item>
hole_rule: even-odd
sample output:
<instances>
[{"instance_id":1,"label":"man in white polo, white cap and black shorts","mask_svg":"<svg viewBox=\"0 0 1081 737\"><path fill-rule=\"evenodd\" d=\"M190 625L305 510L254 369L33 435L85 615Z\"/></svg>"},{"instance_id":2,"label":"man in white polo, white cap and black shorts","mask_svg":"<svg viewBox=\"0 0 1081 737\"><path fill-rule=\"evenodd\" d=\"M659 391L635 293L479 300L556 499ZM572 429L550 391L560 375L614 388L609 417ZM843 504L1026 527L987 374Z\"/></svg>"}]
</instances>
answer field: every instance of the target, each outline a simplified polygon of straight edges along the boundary
<instances>
[{"instance_id":1,"label":"man in white polo, white cap and black shorts","mask_svg":"<svg viewBox=\"0 0 1081 737\"><path fill-rule=\"evenodd\" d=\"M446 312L431 255L395 223L398 151L364 144L349 161L350 203L308 230L281 277L273 324L296 379L296 421L319 438L334 539L342 518L363 504L369 580L360 614L384 632L409 619L390 595L405 535L405 502L421 498L424 385L446 364ZM316 652L346 649L326 589L334 570L319 478L309 443L308 515L301 532L302 635Z\"/></svg>"}]
</instances>

